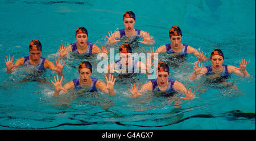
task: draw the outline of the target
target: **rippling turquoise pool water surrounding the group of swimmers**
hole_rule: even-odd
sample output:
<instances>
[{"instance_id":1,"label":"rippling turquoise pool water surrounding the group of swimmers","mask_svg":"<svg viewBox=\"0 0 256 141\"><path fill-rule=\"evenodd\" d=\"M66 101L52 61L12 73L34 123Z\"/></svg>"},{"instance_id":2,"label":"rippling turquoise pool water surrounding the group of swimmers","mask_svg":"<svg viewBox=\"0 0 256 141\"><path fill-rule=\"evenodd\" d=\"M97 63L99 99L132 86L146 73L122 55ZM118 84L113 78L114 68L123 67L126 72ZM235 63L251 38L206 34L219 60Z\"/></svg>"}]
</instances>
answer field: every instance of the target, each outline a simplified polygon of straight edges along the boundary
<instances>
[{"instance_id":1,"label":"rippling turquoise pool water surrounding the group of swimmers","mask_svg":"<svg viewBox=\"0 0 256 141\"><path fill-rule=\"evenodd\" d=\"M123 28L122 14L136 14L135 28L150 32L154 45L139 44L145 50L170 42L168 31L179 26L182 43L209 53L218 47L225 55L224 64L239 67L238 60L248 61L249 78L232 76L239 93L228 88L201 87L196 98L181 101L175 109L163 97L133 99L127 80L116 82L115 97L88 93L75 97L51 96L51 83L17 83L26 74L19 68L6 73L5 56L14 61L28 56L28 44L38 39L42 56L54 62L60 44L75 42L75 30L85 27L89 42L106 44L110 30ZM254 129L255 130L255 1L1 1L0 2L0 129ZM118 48L118 44L113 47ZM95 57L95 56L94 56ZM98 63L88 58L96 72ZM160 56L161 58L161 56ZM164 57L162 57L164 59ZM65 59L63 84L79 77L80 59ZM200 80L191 82L196 59L189 55L185 67L171 68L170 78L197 89ZM204 63L209 65L210 62ZM47 80L56 73L47 71ZM103 74L92 77L105 81ZM138 78L140 80L138 80ZM138 75L142 85L148 79ZM205 90L203 92L203 90ZM106 108L108 107L108 108Z\"/></svg>"}]
</instances>

